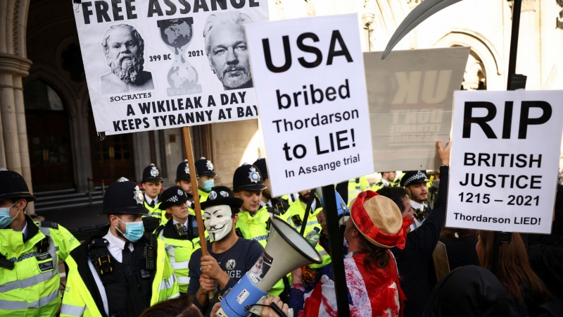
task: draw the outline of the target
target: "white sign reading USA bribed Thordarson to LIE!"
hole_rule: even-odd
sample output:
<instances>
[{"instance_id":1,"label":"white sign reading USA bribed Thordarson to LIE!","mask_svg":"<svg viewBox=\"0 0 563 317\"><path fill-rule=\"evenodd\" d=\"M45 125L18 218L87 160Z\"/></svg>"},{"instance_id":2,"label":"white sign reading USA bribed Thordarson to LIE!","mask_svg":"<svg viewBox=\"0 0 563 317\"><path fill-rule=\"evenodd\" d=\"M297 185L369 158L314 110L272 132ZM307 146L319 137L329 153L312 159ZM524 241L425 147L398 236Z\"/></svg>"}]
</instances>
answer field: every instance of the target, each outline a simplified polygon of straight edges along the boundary
<instances>
[{"instance_id":1,"label":"white sign reading USA bribed Thordarson to LIE!","mask_svg":"<svg viewBox=\"0 0 563 317\"><path fill-rule=\"evenodd\" d=\"M272 194L372 173L358 15L245 28Z\"/></svg>"}]
</instances>

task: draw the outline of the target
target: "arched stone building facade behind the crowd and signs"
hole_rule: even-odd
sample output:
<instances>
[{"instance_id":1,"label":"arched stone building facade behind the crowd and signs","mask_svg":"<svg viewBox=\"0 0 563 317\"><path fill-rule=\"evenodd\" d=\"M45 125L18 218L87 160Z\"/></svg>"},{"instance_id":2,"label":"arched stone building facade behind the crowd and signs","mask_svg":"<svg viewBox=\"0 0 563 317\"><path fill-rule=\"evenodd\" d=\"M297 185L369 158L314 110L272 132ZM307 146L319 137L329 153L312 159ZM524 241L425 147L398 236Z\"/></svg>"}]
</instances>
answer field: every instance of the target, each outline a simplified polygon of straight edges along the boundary
<instances>
[{"instance_id":1,"label":"arched stone building facade behind the crowd and signs","mask_svg":"<svg viewBox=\"0 0 563 317\"><path fill-rule=\"evenodd\" d=\"M269 0L269 6L272 20L359 13L364 49L381 51L422 1ZM563 89L560 3L523 0L517 73L528 76L527 89ZM140 180L151 162L170 184L185 156L180 129L97 137L72 9L71 0L0 0L0 166L21 173L36 192L84 191L88 179L122 175ZM502 90L511 19L512 1L461 1L424 21L396 49L471 46L464 88ZM196 156L213 160L222 185L231 185L241 163L265 154L258 120L191 132Z\"/></svg>"}]
</instances>

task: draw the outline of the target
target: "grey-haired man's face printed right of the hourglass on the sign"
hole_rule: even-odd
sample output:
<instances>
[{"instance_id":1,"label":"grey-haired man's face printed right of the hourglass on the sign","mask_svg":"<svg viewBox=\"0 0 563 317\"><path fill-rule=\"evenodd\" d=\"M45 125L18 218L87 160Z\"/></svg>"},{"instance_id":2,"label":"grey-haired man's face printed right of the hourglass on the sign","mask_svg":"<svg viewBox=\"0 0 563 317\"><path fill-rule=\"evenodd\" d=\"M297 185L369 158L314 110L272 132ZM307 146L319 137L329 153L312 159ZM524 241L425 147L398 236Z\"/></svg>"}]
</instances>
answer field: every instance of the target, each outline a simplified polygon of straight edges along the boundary
<instances>
[{"instance_id":1,"label":"grey-haired man's face printed right of the hourglass on the sign","mask_svg":"<svg viewBox=\"0 0 563 317\"><path fill-rule=\"evenodd\" d=\"M215 13L205 20L205 53L225 90L253 87L243 27L251 22L251 17L238 11Z\"/></svg>"}]
</instances>

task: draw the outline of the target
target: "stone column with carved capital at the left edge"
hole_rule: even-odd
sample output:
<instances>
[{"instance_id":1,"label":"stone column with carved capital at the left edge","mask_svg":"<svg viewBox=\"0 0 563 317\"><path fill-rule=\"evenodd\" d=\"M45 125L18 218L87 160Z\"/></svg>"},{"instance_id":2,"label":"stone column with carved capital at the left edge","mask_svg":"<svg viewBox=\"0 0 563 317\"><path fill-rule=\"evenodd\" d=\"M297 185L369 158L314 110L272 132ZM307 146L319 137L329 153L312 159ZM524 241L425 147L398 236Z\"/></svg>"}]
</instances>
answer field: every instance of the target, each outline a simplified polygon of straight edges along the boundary
<instances>
[{"instance_id":1,"label":"stone column with carved capital at the left edge","mask_svg":"<svg viewBox=\"0 0 563 317\"><path fill-rule=\"evenodd\" d=\"M29 75L27 71L31 64L27 58L0 54L0 163L8 170L20 173L30 191L32 180L22 77ZM33 203L27 205L26 213L35 213Z\"/></svg>"}]
</instances>

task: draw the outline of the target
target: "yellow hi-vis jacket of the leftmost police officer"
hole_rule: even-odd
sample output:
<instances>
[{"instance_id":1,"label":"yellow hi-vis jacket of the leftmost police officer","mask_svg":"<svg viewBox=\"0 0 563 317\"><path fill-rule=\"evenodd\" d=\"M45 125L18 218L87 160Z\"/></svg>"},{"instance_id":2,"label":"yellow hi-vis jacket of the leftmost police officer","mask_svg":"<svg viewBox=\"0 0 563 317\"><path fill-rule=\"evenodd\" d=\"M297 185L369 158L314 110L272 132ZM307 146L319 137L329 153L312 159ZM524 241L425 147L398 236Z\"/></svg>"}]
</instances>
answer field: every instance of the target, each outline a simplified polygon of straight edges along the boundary
<instances>
[{"instance_id":1,"label":"yellow hi-vis jacket of the leftmost police officer","mask_svg":"<svg viewBox=\"0 0 563 317\"><path fill-rule=\"evenodd\" d=\"M58 260L80 243L56 223L34 223L29 216L25 221L25 239L22 232L0 229L0 254L14 264L0 268L0 316L55 316L61 306Z\"/></svg>"}]
</instances>

